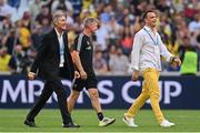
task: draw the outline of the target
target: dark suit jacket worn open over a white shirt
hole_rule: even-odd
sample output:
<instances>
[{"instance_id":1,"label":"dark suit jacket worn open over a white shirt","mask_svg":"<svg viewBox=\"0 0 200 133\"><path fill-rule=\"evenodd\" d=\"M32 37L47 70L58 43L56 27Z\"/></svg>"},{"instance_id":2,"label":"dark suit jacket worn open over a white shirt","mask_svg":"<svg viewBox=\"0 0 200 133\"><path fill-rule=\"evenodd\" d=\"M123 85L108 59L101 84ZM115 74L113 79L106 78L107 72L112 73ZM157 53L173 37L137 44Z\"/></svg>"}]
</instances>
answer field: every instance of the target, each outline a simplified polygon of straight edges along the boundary
<instances>
[{"instance_id":1,"label":"dark suit jacket worn open over a white shirt","mask_svg":"<svg viewBox=\"0 0 200 133\"><path fill-rule=\"evenodd\" d=\"M41 44L38 48L38 53L34 59L34 62L31 66L31 72L37 73L38 76L44 80L56 80L60 76L59 73L62 73L62 78L73 79L74 68L71 59L71 54L68 48L67 32L63 33L64 41L64 69L63 72L59 72L60 63L60 49L59 41L53 29L49 33L44 34Z\"/></svg>"}]
</instances>

